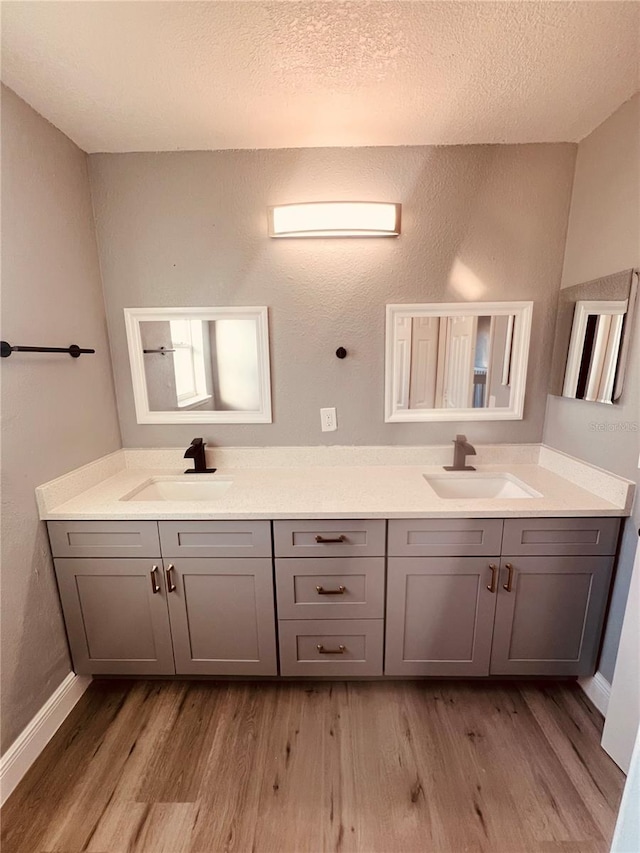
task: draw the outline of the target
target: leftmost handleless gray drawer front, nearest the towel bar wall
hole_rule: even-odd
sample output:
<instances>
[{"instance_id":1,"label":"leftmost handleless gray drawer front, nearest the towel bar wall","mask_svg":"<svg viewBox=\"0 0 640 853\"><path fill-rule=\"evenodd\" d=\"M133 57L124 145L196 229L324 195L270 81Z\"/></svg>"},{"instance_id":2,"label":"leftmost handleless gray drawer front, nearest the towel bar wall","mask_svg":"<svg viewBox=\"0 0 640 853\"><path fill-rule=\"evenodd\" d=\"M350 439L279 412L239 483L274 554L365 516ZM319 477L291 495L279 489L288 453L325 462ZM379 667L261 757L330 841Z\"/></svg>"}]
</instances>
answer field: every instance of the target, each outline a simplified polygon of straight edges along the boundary
<instances>
[{"instance_id":1,"label":"leftmost handleless gray drawer front, nearest the towel bar wall","mask_svg":"<svg viewBox=\"0 0 640 853\"><path fill-rule=\"evenodd\" d=\"M54 557L159 557L156 521L48 521Z\"/></svg>"}]
</instances>

